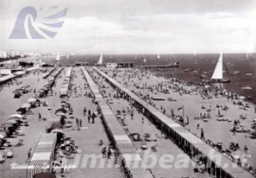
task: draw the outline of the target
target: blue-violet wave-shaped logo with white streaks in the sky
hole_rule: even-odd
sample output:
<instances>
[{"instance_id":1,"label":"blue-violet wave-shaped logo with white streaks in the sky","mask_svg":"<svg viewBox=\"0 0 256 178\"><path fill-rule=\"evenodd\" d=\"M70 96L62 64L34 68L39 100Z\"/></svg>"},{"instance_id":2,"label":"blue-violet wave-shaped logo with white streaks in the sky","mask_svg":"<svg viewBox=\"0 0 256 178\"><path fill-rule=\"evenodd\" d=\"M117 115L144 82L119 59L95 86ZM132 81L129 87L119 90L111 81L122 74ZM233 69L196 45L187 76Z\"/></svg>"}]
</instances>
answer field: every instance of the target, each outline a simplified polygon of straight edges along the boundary
<instances>
[{"instance_id":1,"label":"blue-violet wave-shaped logo with white streaks in the sky","mask_svg":"<svg viewBox=\"0 0 256 178\"><path fill-rule=\"evenodd\" d=\"M43 17L37 17L37 10L33 7L21 9L12 29L9 39L48 39L57 35L56 30L63 27L64 20L60 20L66 14L67 8L59 10L59 7L50 7L43 11Z\"/></svg>"}]
</instances>

